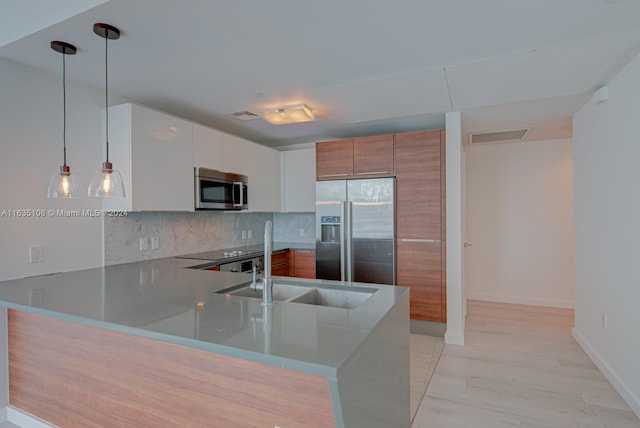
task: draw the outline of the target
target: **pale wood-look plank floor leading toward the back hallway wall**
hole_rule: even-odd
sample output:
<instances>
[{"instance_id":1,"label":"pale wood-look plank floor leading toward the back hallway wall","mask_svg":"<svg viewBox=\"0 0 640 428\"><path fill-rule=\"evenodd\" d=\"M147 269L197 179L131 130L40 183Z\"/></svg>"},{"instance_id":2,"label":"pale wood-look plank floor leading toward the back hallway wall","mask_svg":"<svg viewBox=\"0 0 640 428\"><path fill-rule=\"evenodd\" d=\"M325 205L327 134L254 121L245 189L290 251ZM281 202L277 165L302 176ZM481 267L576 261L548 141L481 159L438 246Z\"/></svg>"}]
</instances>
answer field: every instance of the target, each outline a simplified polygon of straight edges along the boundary
<instances>
[{"instance_id":1,"label":"pale wood-look plank floor leading toward the back hallway wall","mask_svg":"<svg viewBox=\"0 0 640 428\"><path fill-rule=\"evenodd\" d=\"M413 428L640 427L571 337L573 310L469 301L466 326L466 345L445 347Z\"/></svg>"}]
</instances>

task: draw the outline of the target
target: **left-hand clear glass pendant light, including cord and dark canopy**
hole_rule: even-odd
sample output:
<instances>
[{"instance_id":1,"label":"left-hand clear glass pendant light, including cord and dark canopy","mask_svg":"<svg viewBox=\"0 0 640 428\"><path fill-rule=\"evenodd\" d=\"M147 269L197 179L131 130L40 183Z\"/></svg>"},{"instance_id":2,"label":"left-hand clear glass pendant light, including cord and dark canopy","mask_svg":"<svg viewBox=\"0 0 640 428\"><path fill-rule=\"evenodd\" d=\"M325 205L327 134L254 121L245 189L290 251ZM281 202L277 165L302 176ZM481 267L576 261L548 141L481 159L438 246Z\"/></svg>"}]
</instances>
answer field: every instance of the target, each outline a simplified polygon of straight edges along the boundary
<instances>
[{"instance_id":1,"label":"left-hand clear glass pendant light, including cord and dark canopy","mask_svg":"<svg viewBox=\"0 0 640 428\"><path fill-rule=\"evenodd\" d=\"M51 49L62 54L62 165L60 171L51 176L48 198L78 198L82 195L77 174L71 173L67 165L67 87L66 87L66 56L75 55L76 47L72 44L53 41Z\"/></svg>"}]
</instances>

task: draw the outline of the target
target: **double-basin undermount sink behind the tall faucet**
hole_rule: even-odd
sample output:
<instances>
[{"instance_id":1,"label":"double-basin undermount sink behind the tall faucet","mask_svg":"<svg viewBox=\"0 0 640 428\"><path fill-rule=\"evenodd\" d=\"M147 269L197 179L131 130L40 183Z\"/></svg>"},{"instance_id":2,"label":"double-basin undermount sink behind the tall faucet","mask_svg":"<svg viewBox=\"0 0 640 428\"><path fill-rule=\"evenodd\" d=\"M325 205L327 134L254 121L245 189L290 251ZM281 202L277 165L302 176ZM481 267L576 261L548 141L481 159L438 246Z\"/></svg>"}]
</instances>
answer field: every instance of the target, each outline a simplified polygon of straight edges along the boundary
<instances>
[{"instance_id":1,"label":"double-basin undermount sink behind the tall faucet","mask_svg":"<svg viewBox=\"0 0 640 428\"><path fill-rule=\"evenodd\" d=\"M376 291L375 288L350 287L324 288L305 285L273 284L273 300L289 303L303 303L307 305L330 306L333 308L354 309L367 300ZM252 297L262 299L262 290L252 290L248 284L236 285L217 291L238 297Z\"/></svg>"}]
</instances>

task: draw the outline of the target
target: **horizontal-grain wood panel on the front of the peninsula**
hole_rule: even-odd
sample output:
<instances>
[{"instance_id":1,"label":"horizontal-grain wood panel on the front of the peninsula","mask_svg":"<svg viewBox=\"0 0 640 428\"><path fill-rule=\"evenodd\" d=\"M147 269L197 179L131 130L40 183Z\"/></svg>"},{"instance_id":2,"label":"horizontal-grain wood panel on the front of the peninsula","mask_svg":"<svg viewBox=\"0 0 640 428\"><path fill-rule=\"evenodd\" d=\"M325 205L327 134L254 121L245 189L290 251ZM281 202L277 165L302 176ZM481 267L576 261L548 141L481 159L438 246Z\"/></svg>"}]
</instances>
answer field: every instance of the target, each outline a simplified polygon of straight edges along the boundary
<instances>
[{"instance_id":1,"label":"horizontal-grain wood panel on the front of the peninsula","mask_svg":"<svg viewBox=\"0 0 640 428\"><path fill-rule=\"evenodd\" d=\"M61 427L334 427L327 379L8 310L10 404Z\"/></svg>"}]
</instances>

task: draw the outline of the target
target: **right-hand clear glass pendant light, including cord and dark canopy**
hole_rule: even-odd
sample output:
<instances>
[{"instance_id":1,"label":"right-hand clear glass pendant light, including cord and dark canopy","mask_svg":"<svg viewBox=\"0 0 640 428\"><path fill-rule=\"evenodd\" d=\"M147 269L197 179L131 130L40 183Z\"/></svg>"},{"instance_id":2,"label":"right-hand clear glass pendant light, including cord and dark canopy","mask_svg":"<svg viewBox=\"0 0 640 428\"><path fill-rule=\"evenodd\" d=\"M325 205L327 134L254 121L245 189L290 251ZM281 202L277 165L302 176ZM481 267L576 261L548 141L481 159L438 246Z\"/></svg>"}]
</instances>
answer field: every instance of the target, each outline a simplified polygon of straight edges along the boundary
<instances>
[{"instance_id":1,"label":"right-hand clear glass pendant light, including cord and dark canopy","mask_svg":"<svg viewBox=\"0 0 640 428\"><path fill-rule=\"evenodd\" d=\"M109 39L118 40L120 30L109 24L97 23L93 25L93 32L104 38L104 98L105 98L105 129L107 157L102 168L97 170L89 184L89 196L91 197L120 197L124 198L124 182L120 171L113 169L113 164L109 162Z\"/></svg>"}]
</instances>

